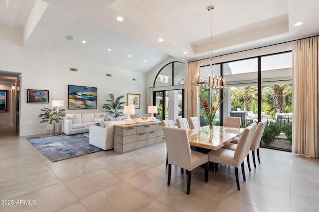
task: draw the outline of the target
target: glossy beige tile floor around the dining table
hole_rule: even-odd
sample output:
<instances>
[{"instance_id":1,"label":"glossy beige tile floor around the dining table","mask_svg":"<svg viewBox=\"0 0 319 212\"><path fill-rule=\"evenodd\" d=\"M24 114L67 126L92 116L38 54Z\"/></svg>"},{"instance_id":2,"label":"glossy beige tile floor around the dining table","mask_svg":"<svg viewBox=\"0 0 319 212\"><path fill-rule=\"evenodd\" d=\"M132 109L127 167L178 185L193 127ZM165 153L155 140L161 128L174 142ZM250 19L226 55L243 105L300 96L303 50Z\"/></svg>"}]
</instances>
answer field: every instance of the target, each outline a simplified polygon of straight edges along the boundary
<instances>
[{"instance_id":1,"label":"glossy beige tile floor around the dining table","mask_svg":"<svg viewBox=\"0 0 319 212\"><path fill-rule=\"evenodd\" d=\"M187 177L180 168L172 166L167 186L164 143L52 163L26 137L1 127L0 211L319 212L319 159L264 148L260 156L256 169L249 172L246 166L240 191L234 169L222 165L209 172L208 183L203 170L194 170L186 195ZM16 205L17 200L31 204Z\"/></svg>"}]
</instances>

